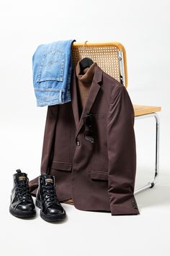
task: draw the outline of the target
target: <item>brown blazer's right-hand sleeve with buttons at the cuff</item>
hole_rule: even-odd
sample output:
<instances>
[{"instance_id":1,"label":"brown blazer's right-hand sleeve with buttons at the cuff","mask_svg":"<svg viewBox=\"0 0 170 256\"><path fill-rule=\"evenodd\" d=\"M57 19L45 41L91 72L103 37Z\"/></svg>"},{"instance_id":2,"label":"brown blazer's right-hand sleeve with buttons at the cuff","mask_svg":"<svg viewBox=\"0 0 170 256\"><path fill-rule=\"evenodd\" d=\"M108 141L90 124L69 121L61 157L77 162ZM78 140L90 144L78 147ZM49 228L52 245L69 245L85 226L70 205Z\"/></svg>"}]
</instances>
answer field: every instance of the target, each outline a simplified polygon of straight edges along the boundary
<instances>
[{"instance_id":1,"label":"brown blazer's right-hand sleeve with buttons at the cuff","mask_svg":"<svg viewBox=\"0 0 170 256\"><path fill-rule=\"evenodd\" d=\"M134 110L125 86L111 95L107 116L108 193L112 215L139 214L133 195L136 172Z\"/></svg>"}]
</instances>

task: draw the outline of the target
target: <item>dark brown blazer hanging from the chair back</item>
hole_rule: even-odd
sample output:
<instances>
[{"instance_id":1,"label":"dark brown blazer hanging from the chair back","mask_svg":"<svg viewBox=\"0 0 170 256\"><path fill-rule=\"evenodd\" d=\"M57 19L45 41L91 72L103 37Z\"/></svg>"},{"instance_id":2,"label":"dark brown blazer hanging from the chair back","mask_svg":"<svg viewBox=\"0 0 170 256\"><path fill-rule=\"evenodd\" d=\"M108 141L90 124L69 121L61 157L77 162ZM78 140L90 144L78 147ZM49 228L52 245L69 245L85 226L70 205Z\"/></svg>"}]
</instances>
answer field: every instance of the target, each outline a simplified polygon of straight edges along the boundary
<instances>
[{"instance_id":1,"label":"dark brown blazer hanging from the chair back","mask_svg":"<svg viewBox=\"0 0 170 256\"><path fill-rule=\"evenodd\" d=\"M139 214L135 202L134 111L126 88L99 67L81 82L91 82L84 109L79 108L79 63L71 82L72 101L48 106L41 173L55 175L62 202L73 199L79 210ZM82 78L82 76L81 76ZM84 77L83 77L84 78ZM91 81L92 80L92 81ZM93 114L94 143L84 137L84 116ZM32 195L37 178L30 182Z\"/></svg>"}]
</instances>

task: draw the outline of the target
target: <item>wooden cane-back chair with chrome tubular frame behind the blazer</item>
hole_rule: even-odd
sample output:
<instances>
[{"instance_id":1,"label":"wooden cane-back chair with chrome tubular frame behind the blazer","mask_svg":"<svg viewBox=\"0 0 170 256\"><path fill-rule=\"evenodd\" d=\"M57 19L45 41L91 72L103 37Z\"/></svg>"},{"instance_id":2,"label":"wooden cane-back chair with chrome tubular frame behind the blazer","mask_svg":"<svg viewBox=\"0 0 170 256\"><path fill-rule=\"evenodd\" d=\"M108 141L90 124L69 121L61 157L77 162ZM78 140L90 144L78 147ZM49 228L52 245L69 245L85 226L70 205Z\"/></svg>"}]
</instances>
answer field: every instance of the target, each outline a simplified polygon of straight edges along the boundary
<instances>
[{"instance_id":1,"label":"wooden cane-back chair with chrome tubular frame behind the blazer","mask_svg":"<svg viewBox=\"0 0 170 256\"><path fill-rule=\"evenodd\" d=\"M84 57L89 57L93 61L97 62L99 67L114 77L116 80L128 86L128 72L127 72L127 61L126 61L126 51L121 43L117 42L105 42L105 43L91 43L86 41L85 43L73 42L72 46L72 58L73 66L75 67L77 62ZM135 189L135 194L153 187L158 179L158 156L159 156L159 119L156 112L161 111L160 106L141 106L133 105L135 111L135 119L143 118L155 118L156 120L156 161L155 161L155 171L153 176L153 181L148 182L148 184L143 187Z\"/></svg>"}]
</instances>

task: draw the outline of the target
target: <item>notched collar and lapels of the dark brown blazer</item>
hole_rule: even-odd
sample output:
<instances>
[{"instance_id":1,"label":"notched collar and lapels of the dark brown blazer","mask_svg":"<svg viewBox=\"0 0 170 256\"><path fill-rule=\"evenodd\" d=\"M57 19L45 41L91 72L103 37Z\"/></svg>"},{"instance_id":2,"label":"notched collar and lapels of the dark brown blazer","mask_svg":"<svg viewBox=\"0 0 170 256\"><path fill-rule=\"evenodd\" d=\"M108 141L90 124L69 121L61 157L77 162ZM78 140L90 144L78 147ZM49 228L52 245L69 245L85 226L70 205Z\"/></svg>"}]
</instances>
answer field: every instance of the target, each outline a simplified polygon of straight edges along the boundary
<instances>
[{"instance_id":1,"label":"notched collar and lapels of the dark brown blazer","mask_svg":"<svg viewBox=\"0 0 170 256\"><path fill-rule=\"evenodd\" d=\"M91 107L93 106L93 103L95 101L95 99L97 98L97 93L99 92L99 89L101 87L101 83L102 82L102 74L103 71L102 69L100 69L97 64L95 64L95 69L94 69L94 76L92 77L92 82L91 82L91 87L89 90L89 95L86 99L86 104L84 106L83 112L81 114L81 116L79 116L79 106L78 106L78 92L77 92L77 80L81 78L82 80L88 80L89 76L91 74L91 68L94 64L91 65L91 67L89 67L89 69L86 72L86 76L84 75L83 77L79 77L79 72L77 73L77 70L79 70L79 62L76 66L76 69L73 72L73 83L72 83L72 108L73 108L73 116L75 119L75 123L76 123L76 136L78 135L81 127L84 124L84 116L86 116L86 114L88 114L91 110ZM78 74L78 77L77 77ZM83 82L83 81L82 81Z\"/></svg>"}]
</instances>

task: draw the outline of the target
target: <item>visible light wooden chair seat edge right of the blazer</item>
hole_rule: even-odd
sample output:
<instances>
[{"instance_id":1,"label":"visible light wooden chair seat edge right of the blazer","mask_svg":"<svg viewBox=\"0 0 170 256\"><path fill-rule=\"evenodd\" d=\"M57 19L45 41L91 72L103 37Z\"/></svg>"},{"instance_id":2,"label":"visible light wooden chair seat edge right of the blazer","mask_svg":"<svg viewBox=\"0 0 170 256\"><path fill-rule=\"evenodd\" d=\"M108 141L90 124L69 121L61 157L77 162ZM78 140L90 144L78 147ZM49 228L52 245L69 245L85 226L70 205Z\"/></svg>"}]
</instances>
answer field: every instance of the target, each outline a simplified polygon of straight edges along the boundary
<instances>
[{"instance_id":1,"label":"visible light wooden chair seat edge right of the blazer","mask_svg":"<svg viewBox=\"0 0 170 256\"><path fill-rule=\"evenodd\" d=\"M145 114L151 114L154 112L161 111L160 106L143 106L143 105L133 105L135 116L141 116Z\"/></svg>"}]
</instances>

